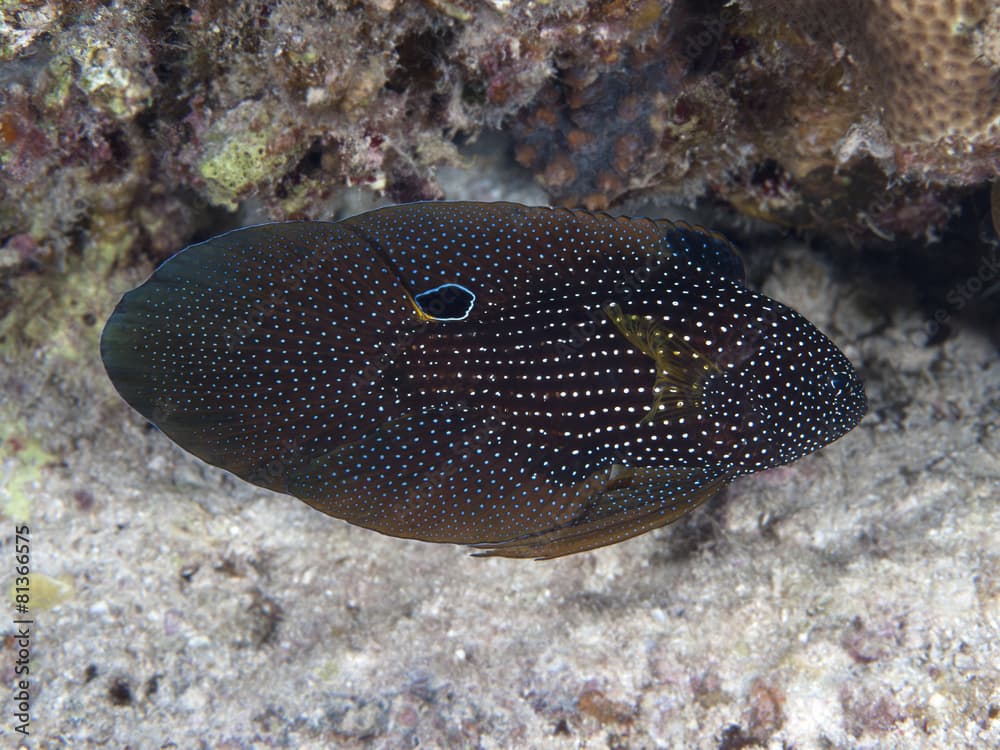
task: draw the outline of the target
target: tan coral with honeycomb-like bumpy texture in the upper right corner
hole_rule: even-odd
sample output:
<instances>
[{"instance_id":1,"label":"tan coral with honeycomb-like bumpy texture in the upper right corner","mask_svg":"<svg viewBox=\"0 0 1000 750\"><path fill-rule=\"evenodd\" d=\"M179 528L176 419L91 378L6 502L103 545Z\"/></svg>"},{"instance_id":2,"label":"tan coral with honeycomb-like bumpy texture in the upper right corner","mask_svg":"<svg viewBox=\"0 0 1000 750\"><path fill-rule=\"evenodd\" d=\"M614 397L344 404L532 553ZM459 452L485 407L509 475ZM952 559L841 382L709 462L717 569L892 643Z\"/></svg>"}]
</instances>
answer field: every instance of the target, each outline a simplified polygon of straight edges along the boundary
<instances>
[{"instance_id":1,"label":"tan coral with honeycomb-like bumpy texture in the upper right corner","mask_svg":"<svg viewBox=\"0 0 1000 750\"><path fill-rule=\"evenodd\" d=\"M995 174L1000 162L995 3L798 0L790 5L796 23L849 56L858 94L855 127L881 126L859 146L873 155L881 152L887 173L897 180L950 185Z\"/></svg>"}]
</instances>

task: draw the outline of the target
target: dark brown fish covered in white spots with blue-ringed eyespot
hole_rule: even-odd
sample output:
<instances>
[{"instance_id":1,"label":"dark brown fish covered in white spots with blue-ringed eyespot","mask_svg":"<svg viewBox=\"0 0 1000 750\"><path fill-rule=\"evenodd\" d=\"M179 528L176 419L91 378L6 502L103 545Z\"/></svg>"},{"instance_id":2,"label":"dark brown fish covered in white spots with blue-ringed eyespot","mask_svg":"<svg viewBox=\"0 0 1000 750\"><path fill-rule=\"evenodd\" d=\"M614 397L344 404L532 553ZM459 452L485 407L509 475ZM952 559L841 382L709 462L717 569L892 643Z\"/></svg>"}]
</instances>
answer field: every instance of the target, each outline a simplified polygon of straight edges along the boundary
<instances>
[{"instance_id":1,"label":"dark brown fish covered in white spots with blue-ringed eyespot","mask_svg":"<svg viewBox=\"0 0 1000 750\"><path fill-rule=\"evenodd\" d=\"M393 536L555 557L676 520L866 410L839 349L720 235L415 203L192 245L101 353L203 460Z\"/></svg>"}]
</instances>

